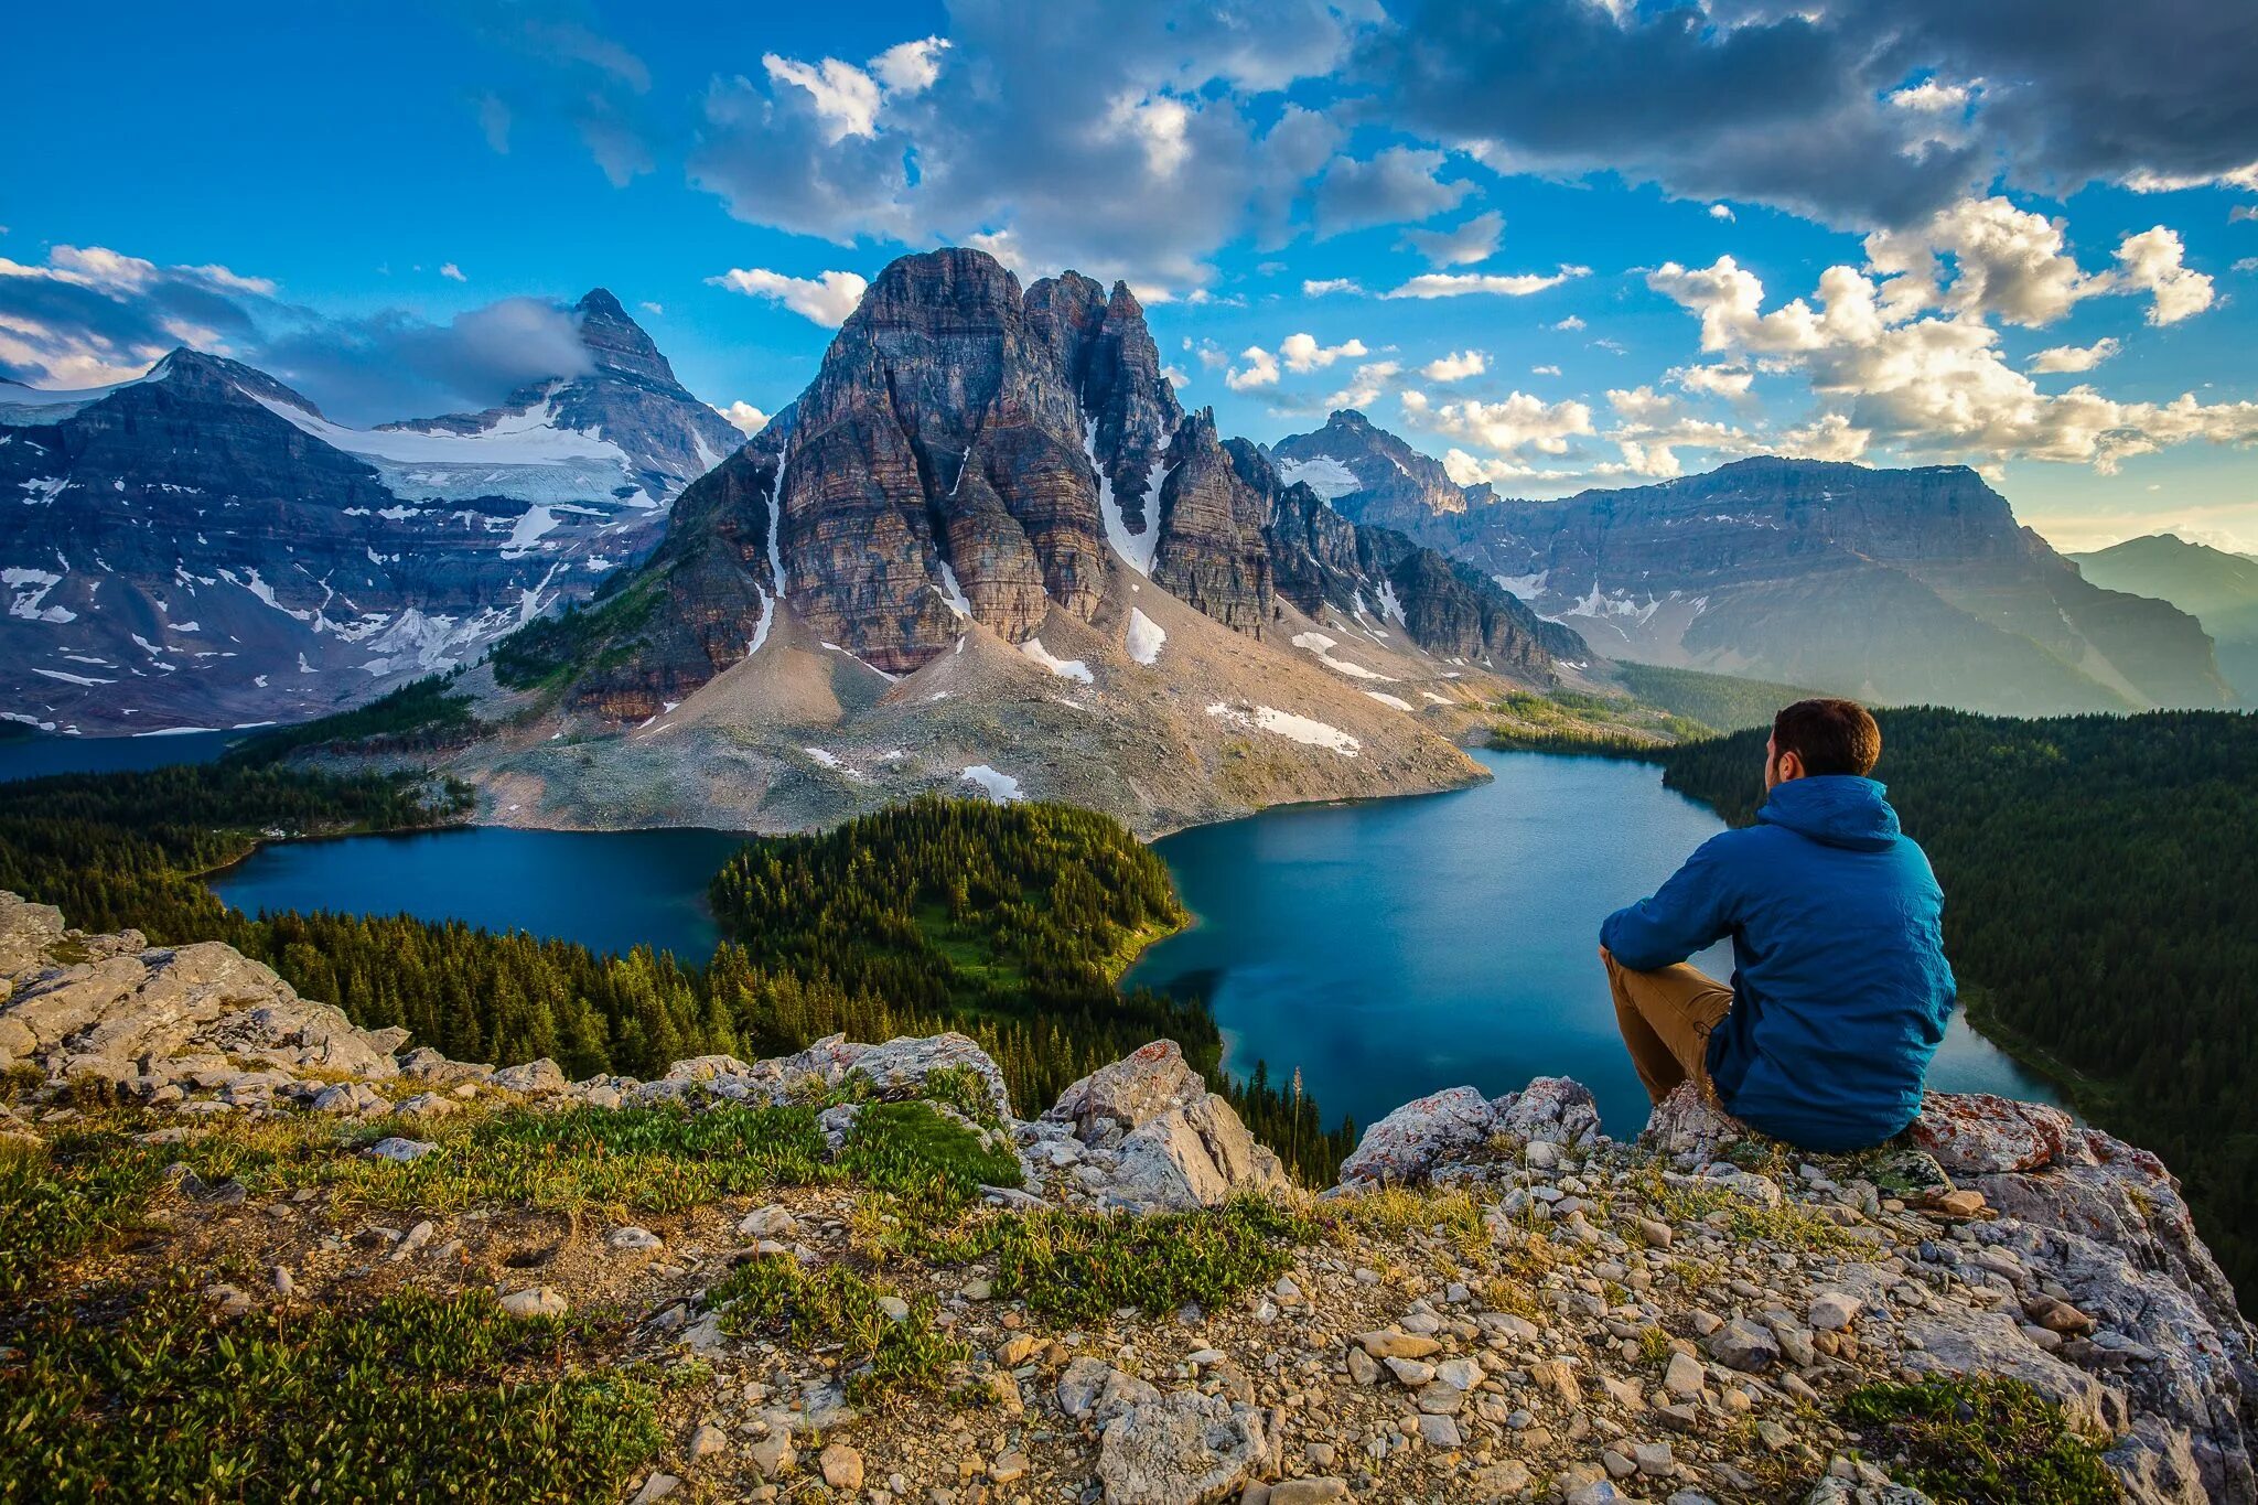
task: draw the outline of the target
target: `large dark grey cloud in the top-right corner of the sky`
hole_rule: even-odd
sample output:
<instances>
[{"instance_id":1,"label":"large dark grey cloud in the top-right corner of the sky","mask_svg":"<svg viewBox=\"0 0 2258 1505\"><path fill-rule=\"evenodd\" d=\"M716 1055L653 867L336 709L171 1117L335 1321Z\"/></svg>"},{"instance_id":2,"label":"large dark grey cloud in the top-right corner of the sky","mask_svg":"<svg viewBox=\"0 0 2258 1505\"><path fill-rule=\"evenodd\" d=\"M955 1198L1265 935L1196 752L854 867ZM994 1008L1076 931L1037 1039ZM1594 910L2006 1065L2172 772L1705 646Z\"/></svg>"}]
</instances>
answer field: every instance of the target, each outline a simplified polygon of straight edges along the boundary
<instances>
[{"instance_id":1,"label":"large dark grey cloud in the top-right corner of the sky","mask_svg":"<svg viewBox=\"0 0 2258 1505\"><path fill-rule=\"evenodd\" d=\"M1987 190L2235 183L2258 34L2215 0L1425 0L1355 77L1502 171L1913 223ZM2012 79L1994 88L1985 79Z\"/></svg>"}]
</instances>

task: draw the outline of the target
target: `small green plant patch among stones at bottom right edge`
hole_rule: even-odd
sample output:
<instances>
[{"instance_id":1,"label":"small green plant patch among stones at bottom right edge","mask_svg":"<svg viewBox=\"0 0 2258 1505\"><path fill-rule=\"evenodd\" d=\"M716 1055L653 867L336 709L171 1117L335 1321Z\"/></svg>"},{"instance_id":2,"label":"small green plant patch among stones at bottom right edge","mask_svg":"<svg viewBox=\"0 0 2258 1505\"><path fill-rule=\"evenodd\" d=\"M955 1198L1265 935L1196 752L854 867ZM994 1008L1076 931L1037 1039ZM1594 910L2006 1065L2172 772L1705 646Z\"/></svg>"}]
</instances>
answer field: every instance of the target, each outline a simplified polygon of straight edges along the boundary
<instances>
[{"instance_id":1,"label":"small green plant patch among stones at bottom right edge","mask_svg":"<svg viewBox=\"0 0 2258 1505\"><path fill-rule=\"evenodd\" d=\"M1937 1505L2111 1505L2123 1498L2100 1446L2012 1379L1863 1385L1838 1419L1890 1476Z\"/></svg>"}]
</instances>

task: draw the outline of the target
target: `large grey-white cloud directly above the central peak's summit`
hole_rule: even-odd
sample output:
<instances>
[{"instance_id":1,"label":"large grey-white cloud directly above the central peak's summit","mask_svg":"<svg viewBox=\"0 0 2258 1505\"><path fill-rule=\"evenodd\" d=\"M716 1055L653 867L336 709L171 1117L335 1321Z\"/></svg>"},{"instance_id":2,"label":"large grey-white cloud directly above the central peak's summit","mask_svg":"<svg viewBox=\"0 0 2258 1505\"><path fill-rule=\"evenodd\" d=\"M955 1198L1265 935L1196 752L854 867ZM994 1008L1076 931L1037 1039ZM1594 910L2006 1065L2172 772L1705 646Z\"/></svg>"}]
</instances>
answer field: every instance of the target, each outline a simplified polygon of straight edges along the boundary
<instances>
[{"instance_id":1,"label":"large grey-white cloud directly above the central peak's summit","mask_svg":"<svg viewBox=\"0 0 2258 1505\"><path fill-rule=\"evenodd\" d=\"M1032 25L960 0L914 65L894 47L716 79L691 178L738 219L838 244L1009 232L1034 269L1199 287L1215 248L1287 235L1321 174L1334 223L1416 187L1416 162L1337 160L1339 124L1269 99L1337 74L1377 23L1362 2L1061 0Z\"/></svg>"}]
</instances>

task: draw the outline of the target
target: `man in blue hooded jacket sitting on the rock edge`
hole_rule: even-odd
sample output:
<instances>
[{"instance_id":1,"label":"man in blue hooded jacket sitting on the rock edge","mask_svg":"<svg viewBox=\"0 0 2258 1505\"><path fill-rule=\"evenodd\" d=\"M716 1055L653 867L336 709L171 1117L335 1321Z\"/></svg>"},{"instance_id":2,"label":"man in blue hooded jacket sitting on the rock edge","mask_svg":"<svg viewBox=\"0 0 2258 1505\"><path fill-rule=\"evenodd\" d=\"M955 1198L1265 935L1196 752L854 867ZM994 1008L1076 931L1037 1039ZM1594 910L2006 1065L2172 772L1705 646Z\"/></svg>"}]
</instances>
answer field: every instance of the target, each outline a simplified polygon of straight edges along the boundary
<instances>
[{"instance_id":1,"label":"man in blue hooded jacket sitting on the rock edge","mask_svg":"<svg viewBox=\"0 0 2258 1505\"><path fill-rule=\"evenodd\" d=\"M1867 778L1881 729L1802 699L1763 745L1757 824L1727 830L1599 930L1614 1018L1657 1103L1696 1081L1809 1151L1881 1144L1922 1110L1953 1011L1944 894ZM1684 959L1732 936L1732 986Z\"/></svg>"}]
</instances>

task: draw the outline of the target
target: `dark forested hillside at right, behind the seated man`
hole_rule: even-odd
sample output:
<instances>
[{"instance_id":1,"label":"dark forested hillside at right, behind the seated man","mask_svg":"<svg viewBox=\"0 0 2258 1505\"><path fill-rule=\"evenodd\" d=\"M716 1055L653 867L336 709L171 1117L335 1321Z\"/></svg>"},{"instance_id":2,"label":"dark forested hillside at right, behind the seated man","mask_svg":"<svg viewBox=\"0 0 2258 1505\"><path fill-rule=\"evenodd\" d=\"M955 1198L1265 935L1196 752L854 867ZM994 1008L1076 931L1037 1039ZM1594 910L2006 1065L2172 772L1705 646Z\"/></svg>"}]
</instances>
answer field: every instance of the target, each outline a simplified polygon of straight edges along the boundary
<instances>
[{"instance_id":1,"label":"dark forested hillside at right, behind the seated man","mask_svg":"<svg viewBox=\"0 0 2258 1505\"><path fill-rule=\"evenodd\" d=\"M1874 776L1944 882L1976 1022L2163 1155L2258 1288L2258 718L1876 718ZM1761 729L1655 756L1673 790L1754 817Z\"/></svg>"}]
</instances>

